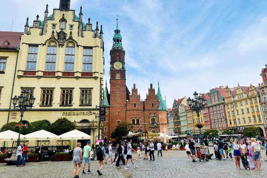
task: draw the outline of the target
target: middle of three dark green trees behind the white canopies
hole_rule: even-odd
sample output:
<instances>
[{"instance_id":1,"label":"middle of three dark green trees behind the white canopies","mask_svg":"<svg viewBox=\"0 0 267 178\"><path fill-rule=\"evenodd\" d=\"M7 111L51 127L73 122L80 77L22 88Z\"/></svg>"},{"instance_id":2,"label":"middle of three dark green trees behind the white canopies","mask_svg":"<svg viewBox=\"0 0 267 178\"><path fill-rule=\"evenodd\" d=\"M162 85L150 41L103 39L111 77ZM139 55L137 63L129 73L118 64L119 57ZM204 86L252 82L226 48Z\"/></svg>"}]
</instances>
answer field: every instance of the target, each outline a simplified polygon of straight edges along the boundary
<instances>
[{"instance_id":1,"label":"middle of three dark green trees behind the white canopies","mask_svg":"<svg viewBox=\"0 0 267 178\"><path fill-rule=\"evenodd\" d=\"M32 132L36 132L39 130L49 131L50 126L51 126L51 124L47 121L44 121L44 120L34 121L34 122L31 122L26 129L23 130L23 134L32 133Z\"/></svg>"}]
</instances>

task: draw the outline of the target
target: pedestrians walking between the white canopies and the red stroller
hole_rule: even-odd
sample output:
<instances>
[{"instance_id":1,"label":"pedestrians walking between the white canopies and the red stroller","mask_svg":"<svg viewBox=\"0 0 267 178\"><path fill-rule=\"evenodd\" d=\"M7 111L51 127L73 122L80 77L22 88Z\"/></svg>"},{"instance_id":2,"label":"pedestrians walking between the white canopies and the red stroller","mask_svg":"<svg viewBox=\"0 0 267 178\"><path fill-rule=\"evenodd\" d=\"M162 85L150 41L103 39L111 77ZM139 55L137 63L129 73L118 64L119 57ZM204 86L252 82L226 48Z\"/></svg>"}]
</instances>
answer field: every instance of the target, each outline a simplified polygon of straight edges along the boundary
<instances>
[{"instance_id":1,"label":"pedestrians walking between the white canopies and the red stroller","mask_svg":"<svg viewBox=\"0 0 267 178\"><path fill-rule=\"evenodd\" d=\"M116 168L119 168L120 165L123 165L123 169L128 170L128 161L131 161L134 169L138 167L138 165L134 164L132 152L135 152L137 154L137 158L135 159L136 161L141 159L141 154L144 154L144 159L143 160L148 160L148 155L149 153L150 159L149 161L155 161L155 155L154 151L155 148L157 149L157 156L159 157L159 154L161 154L162 157L162 145L160 142L155 143L154 141L143 141L138 143L139 147L137 150L133 149L132 147L132 140L124 140L122 142L118 142L116 147L113 149L112 148L113 143L110 142L110 144L105 147L103 146L103 142L99 142L98 147L96 148L96 160L98 162L98 170L97 173L98 175L102 175L101 170L103 169L105 164L108 164L107 161L110 158L111 164L116 165ZM73 176L74 178L79 178L79 173L81 169L83 169L82 174L86 174L84 171L86 163L88 163L88 171L87 173L90 174L90 141L87 142L87 145L84 146L84 148L81 148L81 143L77 143L76 148L74 148L73 151L73 163L74 163L74 171L73 171ZM115 157L113 159L112 156L112 151L115 151ZM116 161L117 159L117 161ZM78 166L77 166L78 165Z\"/></svg>"}]
</instances>

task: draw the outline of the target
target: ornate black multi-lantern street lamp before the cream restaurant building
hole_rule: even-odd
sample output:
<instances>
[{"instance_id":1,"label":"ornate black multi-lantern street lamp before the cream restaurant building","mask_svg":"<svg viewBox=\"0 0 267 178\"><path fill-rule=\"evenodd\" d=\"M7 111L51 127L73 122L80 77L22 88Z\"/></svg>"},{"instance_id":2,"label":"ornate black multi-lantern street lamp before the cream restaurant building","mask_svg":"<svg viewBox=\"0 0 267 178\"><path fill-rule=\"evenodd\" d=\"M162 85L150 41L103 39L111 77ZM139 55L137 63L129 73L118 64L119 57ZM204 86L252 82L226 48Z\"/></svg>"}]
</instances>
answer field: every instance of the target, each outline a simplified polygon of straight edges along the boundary
<instances>
[{"instance_id":1,"label":"ornate black multi-lantern street lamp before the cream restaurant building","mask_svg":"<svg viewBox=\"0 0 267 178\"><path fill-rule=\"evenodd\" d=\"M27 92L27 90L22 90L21 94L19 97L17 95L12 98L12 103L14 105L14 109L17 109L20 111L20 125L22 124L22 118L23 114L27 110L31 110L35 101L35 97L31 96L29 97L30 94ZM17 141L17 148L20 143L20 129L19 129L19 138Z\"/></svg>"}]
</instances>

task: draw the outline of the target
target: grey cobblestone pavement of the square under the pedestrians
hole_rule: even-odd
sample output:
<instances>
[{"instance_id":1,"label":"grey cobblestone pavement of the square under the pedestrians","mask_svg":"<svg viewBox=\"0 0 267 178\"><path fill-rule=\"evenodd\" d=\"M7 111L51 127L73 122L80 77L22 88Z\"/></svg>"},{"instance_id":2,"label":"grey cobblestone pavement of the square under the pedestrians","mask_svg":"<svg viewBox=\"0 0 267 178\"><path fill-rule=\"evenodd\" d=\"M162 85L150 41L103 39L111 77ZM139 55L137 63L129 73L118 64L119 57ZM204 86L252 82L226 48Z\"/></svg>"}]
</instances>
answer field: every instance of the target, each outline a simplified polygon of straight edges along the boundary
<instances>
[{"instance_id":1,"label":"grey cobblestone pavement of the square under the pedestrians","mask_svg":"<svg viewBox=\"0 0 267 178\"><path fill-rule=\"evenodd\" d=\"M211 149L213 150L213 149ZM262 152L265 159L265 151ZM134 154L134 159L136 155ZM155 151L156 156L156 151ZM126 171L123 166L115 168L110 159L108 164L102 169L103 178L106 177L264 177L266 176L267 162L262 160L262 171L236 170L234 160L216 161L212 157L209 162L187 161L185 151L163 151L163 157L155 157L155 162L148 160L134 160L138 168L134 169L129 162L129 169ZM85 171L87 172L87 166ZM242 164L241 164L242 168ZM81 178L98 177L96 170L98 164L91 161L91 174L81 175ZM30 178L68 178L72 177L73 163L71 161L62 162L39 162L27 163L24 167L7 166L0 164L0 177L30 177Z\"/></svg>"}]
</instances>

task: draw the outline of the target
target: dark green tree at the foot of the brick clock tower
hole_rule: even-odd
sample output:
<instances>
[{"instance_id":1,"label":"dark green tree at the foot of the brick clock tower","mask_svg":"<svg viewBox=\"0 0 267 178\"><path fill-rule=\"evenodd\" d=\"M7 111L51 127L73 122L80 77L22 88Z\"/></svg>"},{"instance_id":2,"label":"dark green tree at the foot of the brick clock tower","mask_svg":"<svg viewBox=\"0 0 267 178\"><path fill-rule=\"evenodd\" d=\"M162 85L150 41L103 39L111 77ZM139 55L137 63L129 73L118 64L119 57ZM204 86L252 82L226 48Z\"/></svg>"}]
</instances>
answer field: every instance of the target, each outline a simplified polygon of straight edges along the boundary
<instances>
[{"instance_id":1,"label":"dark green tree at the foot of the brick clock tower","mask_svg":"<svg viewBox=\"0 0 267 178\"><path fill-rule=\"evenodd\" d=\"M133 128L132 124L128 122L121 122L115 130L111 133L111 138L115 138L116 141L121 140L124 136L128 135L129 131Z\"/></svg>"}]
</instances>

